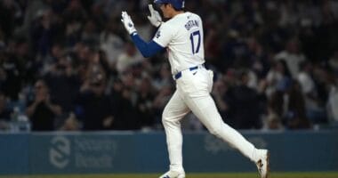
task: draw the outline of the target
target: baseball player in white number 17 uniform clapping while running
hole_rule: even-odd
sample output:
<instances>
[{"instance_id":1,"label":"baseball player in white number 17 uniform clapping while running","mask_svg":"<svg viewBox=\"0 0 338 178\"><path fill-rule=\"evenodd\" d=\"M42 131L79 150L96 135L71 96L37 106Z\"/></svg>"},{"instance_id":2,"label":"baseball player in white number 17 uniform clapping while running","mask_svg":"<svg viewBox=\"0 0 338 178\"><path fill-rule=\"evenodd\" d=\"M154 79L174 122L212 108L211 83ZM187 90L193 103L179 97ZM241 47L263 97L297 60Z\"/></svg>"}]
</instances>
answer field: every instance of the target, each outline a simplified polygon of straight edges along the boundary
<instances>
[{"instance_id":1,"label":"baseball player in white number 17 uniform clapping while running","mask_svg":"<svg viewBox=\"0 0 338 178\"><path fill-rule=\"evenodd\" d=\"M162 122L165 127L169 152L169 171L160 178L184 178L182 166L181 118L192 111L211 134L228 142L245 157L252 160L262 178L269 176L269 152L258 150L245 140L235 129L225 124L210 95L213 86L213 72L205 69L204 34L201 18L192 12L185 12L184 0L155 0L167 21L149 4L148 19L157 27L153 39L146 43L138 35L133 20L122 12L125 29L144 57L150 57L166 49L171 65L176 91L165 106Z\"/></svg>"}]
</instances>

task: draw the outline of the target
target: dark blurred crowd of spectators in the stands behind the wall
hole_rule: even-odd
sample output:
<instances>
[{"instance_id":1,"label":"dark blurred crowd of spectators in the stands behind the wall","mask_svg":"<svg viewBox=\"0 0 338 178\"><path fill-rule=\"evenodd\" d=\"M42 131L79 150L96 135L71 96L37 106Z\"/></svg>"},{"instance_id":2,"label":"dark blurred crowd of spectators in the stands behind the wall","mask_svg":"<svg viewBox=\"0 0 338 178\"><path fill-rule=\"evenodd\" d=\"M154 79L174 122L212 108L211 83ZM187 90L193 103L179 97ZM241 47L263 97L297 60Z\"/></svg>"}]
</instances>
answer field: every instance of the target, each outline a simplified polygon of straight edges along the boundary
<instances>
[{"instance_id":1,"label":"dark blurred crowd of spectators in the stands behind the wall","mask_svg":"<svg viewBox=\"0 0 338 178\"><path fill-rule=\"evenodd\" d=\"M144 59L125 32L156 32L149 0L1 0L0 130L157 130L174 91L165 53ZM337 0L187 0L204 20L213 98L237 129L338 122ZM193 115L185 129L205 129Z\"/></svg>"}]
</instances>

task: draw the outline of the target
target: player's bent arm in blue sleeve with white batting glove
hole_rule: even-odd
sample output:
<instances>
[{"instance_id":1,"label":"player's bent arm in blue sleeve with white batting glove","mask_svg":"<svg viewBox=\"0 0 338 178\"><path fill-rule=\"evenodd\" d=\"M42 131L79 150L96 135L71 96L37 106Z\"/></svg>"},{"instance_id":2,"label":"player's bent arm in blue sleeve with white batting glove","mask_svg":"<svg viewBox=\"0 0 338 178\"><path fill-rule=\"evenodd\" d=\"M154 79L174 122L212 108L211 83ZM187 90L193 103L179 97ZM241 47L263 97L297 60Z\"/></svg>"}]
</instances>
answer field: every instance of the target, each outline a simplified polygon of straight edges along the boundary
<instances>
[{"instance_id":1,"label":"player's bent arm in blue sleeve with white batting glove","mask_svg":"<svg viewBox=\"0 0 338 178\"><path fill-rule=\"evenodd\" d=\"M133 20L130 18L127 12L122 12L121 21L125 25L125 29L128 31L128 33L132 37L133 43L139 49L143 57L148 58L165 49L164 47L157 44L153 40L151 40L149 43L146 43L141 38L141 36L137 34L136 28L133 25Z\"/></svg>"}]
</instances>

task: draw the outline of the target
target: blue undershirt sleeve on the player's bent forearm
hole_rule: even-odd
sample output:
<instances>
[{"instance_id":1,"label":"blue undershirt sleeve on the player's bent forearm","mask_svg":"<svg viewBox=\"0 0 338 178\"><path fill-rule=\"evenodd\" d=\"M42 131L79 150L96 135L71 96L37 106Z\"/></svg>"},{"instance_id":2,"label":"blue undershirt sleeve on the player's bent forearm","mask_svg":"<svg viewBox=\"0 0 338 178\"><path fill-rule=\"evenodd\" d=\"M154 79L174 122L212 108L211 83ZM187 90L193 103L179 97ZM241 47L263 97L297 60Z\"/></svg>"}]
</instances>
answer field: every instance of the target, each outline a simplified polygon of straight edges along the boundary
<instances>
[{"instance_id":1,"label":"blue undershirt sleeve on the player's bent forearm","mask_svg":"<svg viewBox=\"0 0 338 178\"><path fill-rule=\"evenodd\" d=\"M138 34L132 34L133 43L136 45L137 49L141 52L143 57L149 58L153 56L154 54L164 50L165 48L161 45L154 42L154 40L151 40L149 43L146 43L141 39L141 37Z\"/></svg>"}]
</instances>

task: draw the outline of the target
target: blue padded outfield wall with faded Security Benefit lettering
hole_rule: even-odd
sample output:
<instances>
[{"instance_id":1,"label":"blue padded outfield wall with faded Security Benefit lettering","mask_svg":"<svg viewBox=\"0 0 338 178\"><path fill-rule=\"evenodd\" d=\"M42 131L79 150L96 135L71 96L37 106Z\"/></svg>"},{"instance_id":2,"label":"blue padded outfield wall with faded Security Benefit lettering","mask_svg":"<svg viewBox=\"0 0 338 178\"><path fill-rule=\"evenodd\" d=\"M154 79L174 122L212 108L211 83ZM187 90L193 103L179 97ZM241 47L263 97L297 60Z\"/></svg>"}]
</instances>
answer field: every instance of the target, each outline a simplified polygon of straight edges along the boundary
<instances>
[{"instance_id":1,"label":"blue padded outfield wall with faded Security Benefit lettering","mask_svg":"<svg viewBox=\"0 0 338 178\"><path fill-rule=\"evenodd\" d=\"M338 131L242 132L271 151L272 171L337 171ZM254 172L227 143L186 133L187 172ZM165 134L133 132L0 134L0 174L162 173L168 169Z\"/></svg>"}]
</instances>

